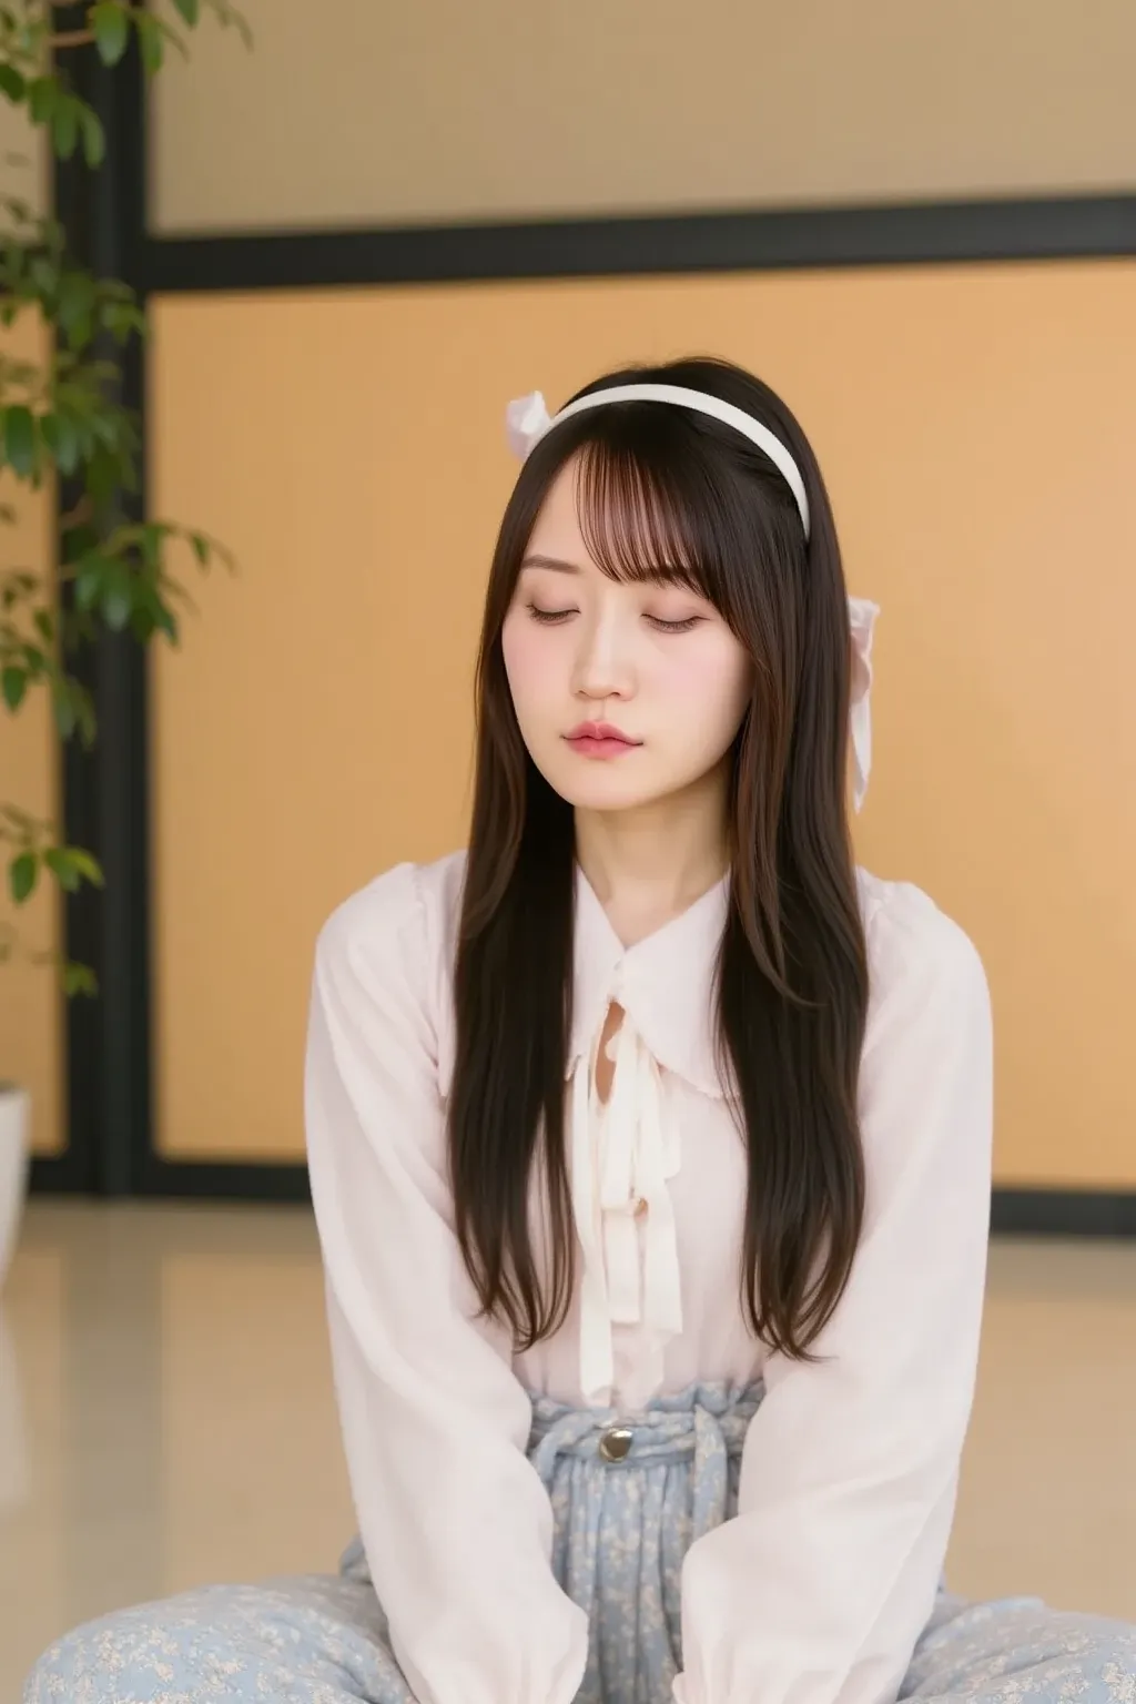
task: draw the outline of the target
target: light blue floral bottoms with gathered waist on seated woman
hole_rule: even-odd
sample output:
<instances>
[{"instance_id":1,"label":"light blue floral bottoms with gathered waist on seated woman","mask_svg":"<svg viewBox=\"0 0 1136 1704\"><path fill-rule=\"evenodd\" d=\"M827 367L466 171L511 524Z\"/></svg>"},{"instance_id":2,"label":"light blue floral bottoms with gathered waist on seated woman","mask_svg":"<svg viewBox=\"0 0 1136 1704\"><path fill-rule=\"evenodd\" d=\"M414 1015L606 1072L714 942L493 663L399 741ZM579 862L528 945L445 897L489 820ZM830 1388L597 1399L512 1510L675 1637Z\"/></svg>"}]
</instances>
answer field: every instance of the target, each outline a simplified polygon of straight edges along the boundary
<instances>
[{"instance_id":1,"label":"light blue floral bottoms with gathered waist on seated woman","mask_svg":"<svg viewBox=\"0 0 1136 1704\"><path fill-rule=\"evenodd\" d=\"M530 1459L552 1498L552 1564L589 1615L579 1704L669 1704L681 1668L683 1557L737 1513L741 1447L760 1401L760 1385L698 1385L634 1421L533 1402ZM1136 1704L1136 1627L1032 1598L967 1603L940 1592L901 1697ZM412 1695L356 1540L339 1574L208 1586L78 1627L27 1680L24 1704L48 1701L412 1704Z\"/></svg>"}]
</instances>

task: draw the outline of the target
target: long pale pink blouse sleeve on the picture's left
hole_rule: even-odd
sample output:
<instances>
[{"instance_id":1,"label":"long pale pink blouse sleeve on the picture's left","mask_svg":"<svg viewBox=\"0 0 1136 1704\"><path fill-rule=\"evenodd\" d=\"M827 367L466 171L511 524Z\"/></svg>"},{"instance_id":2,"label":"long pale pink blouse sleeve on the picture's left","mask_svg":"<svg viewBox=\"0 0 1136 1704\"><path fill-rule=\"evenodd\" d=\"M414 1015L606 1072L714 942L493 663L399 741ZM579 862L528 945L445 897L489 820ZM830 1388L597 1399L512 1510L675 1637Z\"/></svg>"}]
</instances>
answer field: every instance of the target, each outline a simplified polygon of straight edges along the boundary
<instances>
[{"instance_id":1,"label":"long pale pink blouse sleeve on the picture's left","mask_svg":"<svg viewBox=\"0 0 1136 1704\"><path fill-rule=\"evenodd\" d=\"M308 1164L347 1467L419 1704L569 1704L588 1624L552 1574L530 1399L453 1234L429 935L400 866L317 951Z\"/></svg>"}]
</instances>

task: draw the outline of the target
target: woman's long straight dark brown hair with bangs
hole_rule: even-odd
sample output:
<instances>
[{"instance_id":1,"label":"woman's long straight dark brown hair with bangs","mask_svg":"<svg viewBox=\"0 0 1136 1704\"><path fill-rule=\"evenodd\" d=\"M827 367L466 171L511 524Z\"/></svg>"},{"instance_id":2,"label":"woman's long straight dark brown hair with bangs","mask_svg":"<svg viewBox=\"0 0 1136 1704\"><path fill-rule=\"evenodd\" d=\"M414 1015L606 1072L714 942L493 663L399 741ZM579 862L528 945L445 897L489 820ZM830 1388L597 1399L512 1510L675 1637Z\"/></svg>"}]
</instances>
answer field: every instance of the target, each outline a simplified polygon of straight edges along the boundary
<instances>
[{"instance_id":1,"label":"woman's long straight dark brown hair with bangs","mask_svg":"<svg viewBox=\"0 0 1136 1704\"><path fill-rule=\"evenodd\" d=\"M845 794L852 656L840 547L812 448L766 385L688 360L586 389L637 382L710 392L777 433L804 477L811 535L761 450L688 409L584 411L525 463L497 537L477 668L448 1106L456 1235L482 1310L519 1350L559 1329L577 1268L564 1148L574 820L521 740L501 629L536 515L579 457L581 528L598 566L622 581L680 566L754 665L731 755L719 1070L748 1147L746 1319L770 1348L807 1360L848 1283L865 1193L857 1079L869 983Z\"/></svg>"}]
</instances>

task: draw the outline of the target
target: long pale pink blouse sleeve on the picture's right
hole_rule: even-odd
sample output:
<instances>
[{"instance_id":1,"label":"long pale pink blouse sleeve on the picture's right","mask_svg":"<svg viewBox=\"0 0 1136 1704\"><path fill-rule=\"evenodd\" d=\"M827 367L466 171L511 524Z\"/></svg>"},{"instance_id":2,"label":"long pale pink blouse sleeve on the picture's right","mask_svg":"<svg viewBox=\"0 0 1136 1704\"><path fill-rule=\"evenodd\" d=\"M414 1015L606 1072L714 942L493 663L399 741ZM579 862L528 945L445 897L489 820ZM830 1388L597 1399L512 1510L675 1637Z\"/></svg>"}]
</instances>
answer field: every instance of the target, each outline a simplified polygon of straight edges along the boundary
<instances>
[{"instance_id":1,"label":"long pale pink blouse sleeve on the picture's right","mask_svg":"<svg viewBox=\"0 0 1136 1704\"><path fill-rule=\"evenodd\" d=\"M986 1275L990 999L913 888L869 956L863 1239L821 1360L766 1365L737 1520L688 1552L680 1704L884 1704L933 1607Z\"/></svg>"}]
</instances>

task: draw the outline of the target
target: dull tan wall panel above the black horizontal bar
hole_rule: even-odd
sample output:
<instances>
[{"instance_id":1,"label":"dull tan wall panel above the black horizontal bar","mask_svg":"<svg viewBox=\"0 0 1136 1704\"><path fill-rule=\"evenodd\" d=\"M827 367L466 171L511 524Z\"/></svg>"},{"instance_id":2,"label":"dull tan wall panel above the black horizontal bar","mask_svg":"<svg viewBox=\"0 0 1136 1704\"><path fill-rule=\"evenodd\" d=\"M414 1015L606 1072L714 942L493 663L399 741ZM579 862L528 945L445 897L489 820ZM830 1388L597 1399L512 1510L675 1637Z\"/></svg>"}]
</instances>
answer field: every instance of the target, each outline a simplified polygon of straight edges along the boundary
<instances>
[{"instance_id":1,"label":"dull tan wall panel above the black horizontal bar","mask_svg":"<svg viewBox=\"0 0 1136 1704\"><path fill-rule=\"evenodd\" d=\"M245 0L155 89L153 223L1136 186L1131 0Z\"/></svg>"}]
</instances>

